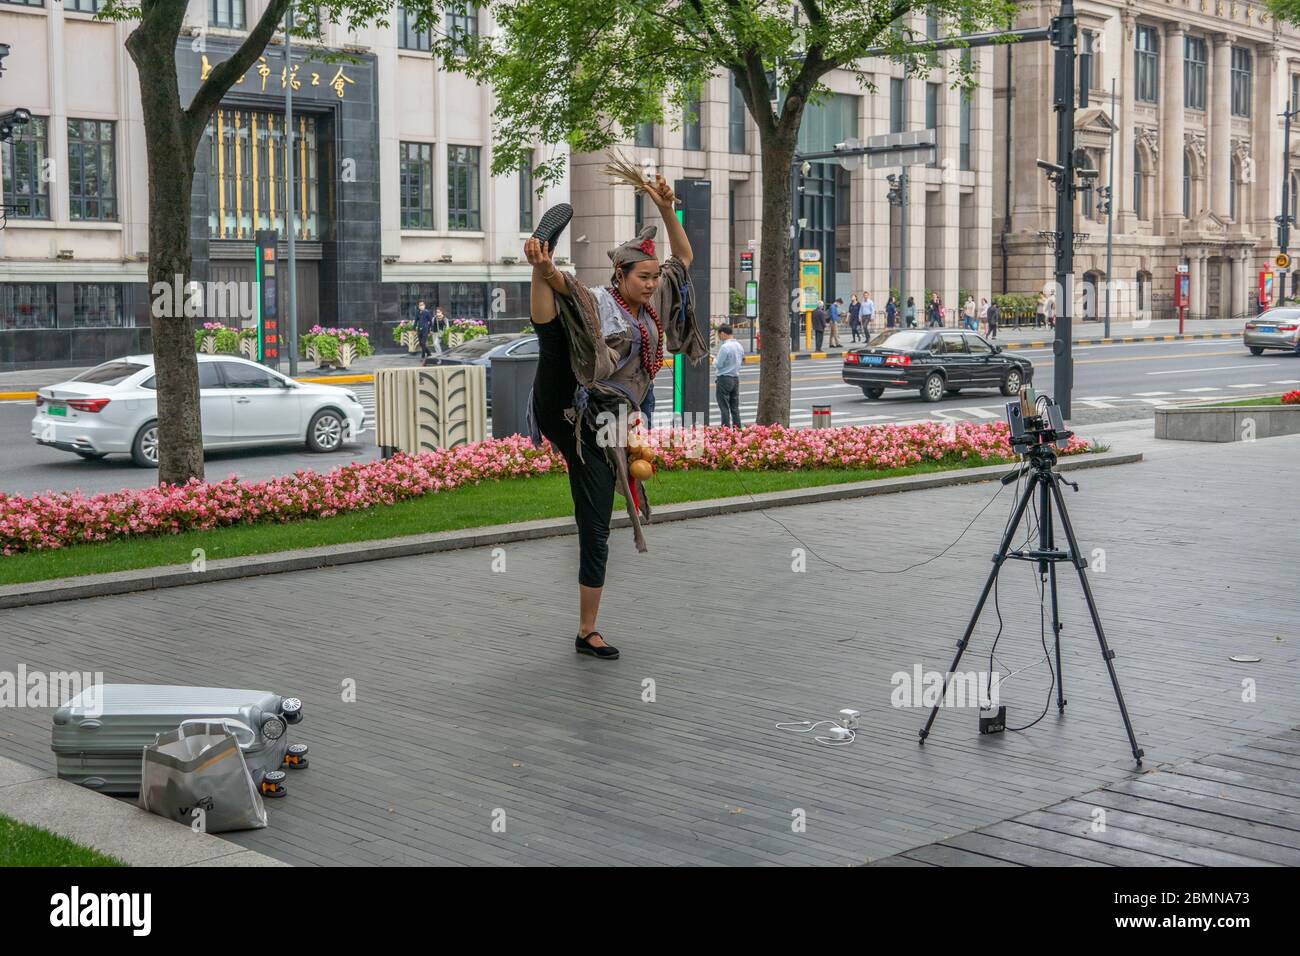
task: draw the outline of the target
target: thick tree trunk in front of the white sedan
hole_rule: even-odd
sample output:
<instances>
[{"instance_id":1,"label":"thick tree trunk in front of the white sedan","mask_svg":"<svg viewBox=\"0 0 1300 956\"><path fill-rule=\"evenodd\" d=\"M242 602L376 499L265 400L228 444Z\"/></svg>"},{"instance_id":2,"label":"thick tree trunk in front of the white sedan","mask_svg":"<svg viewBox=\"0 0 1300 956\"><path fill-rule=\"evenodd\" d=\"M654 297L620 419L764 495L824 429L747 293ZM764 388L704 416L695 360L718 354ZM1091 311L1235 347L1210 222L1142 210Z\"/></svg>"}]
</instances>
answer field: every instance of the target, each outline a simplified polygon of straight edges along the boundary
<instances>
[{"instance_id":1,"label":"thick tree trunk in front of the white sedan","mask_svg":"<svg viewBox=\"0 0 1300 956\"><path fill-rule=\"evenodd\" d=\"M183 13L185 4L178 7ZM148 155L150 325L157 373L159 484L203 479L199 364L183 294L191 267L190 187L196 138L177 87L178 30L179 20L173 25L169 20L147 18L126 42L140 77ZM174 295L177 289L179 297Z\"/></svg>"}]
</instances>

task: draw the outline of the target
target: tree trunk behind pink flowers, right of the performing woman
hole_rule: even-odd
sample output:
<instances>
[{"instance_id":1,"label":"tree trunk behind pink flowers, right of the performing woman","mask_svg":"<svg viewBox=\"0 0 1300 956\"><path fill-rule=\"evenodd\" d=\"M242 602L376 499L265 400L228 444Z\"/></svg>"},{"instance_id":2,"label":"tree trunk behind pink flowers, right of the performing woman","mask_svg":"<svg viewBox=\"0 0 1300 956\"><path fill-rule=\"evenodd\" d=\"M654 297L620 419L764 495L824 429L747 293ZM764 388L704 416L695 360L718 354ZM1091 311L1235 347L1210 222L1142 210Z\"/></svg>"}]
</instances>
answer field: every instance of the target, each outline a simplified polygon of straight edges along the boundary
<instances>
[{"instance_id":1,"label":"tree trunk behind pink flowers, right of the performing woman","mask_svg":"<svg viewBox=\"0 0 1300 956\"><path fill-rule=\"evenodd\" d=\"M798 142L798 121L780 124L760 137L763 159L763 226L759 233L758 278L759 425L790 424L790 163Z\"/></svg>"}]
</instances>

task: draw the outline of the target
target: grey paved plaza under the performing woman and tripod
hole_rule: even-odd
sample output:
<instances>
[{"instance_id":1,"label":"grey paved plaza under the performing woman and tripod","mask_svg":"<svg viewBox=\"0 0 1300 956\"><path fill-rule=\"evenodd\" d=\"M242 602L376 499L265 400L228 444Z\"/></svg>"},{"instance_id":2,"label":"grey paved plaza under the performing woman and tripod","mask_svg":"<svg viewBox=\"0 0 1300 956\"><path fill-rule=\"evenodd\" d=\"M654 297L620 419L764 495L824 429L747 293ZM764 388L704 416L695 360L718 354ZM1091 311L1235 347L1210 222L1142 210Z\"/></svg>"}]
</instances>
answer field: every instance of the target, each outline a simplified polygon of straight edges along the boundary
<instances>
[{"instance_id":1,"label":"grey paved plaza under the performing woman and tripod","mask_svg":"<svg viewBox=\"0 0 1300 956\"><path fill-rule=\"evenodd\" d=\"M1092 581L1152 770L1300 723L1300 535L1275 507L1294 501L1300 440L1148 455L1079 473L1067 502L1084 549L1105 549ZM946 557L905 574L811 555L793 574L800 545L772 520L838 564L902 568L993 490L651 527L640 557L616 532L601 617L616 663L572 652L568 537L512 545L504 574L471 550L8 611L0 669L302 696L294 739L311 769L269 805L268 830L229 835L294 864L858 864L1134 774L1072 579L1065 718L1053 708L1027 734L982 739L972 711L945 711L922 749L924 711L889 704L893 672L946 667L1009 492ZM1008 575L1002 672L1041 657L1032 574ZM987 667L994 631L989 610L968 669ZM356 702L341 700L347 679ZM1013 724L1046 687L1043 666L1005 684ZM842 706L864 718L844 749L774 727ZM0 754L49 769L48 745L49 711L0 726ZM796 809L806 832L792 832Z\"/></svg>"}]
</instances>

